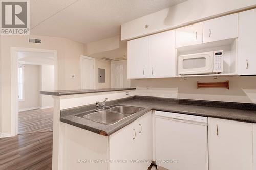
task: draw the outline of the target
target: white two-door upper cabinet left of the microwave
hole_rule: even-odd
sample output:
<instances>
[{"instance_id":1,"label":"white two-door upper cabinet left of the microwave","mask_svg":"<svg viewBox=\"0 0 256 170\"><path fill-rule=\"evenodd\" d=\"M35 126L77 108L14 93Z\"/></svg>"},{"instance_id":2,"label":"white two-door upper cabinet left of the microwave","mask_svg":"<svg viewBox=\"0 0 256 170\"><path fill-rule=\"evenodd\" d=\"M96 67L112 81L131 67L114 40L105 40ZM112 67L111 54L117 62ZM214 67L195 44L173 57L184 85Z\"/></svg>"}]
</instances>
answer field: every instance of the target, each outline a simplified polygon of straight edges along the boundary
<instances>
[{"instance_id":1,"label":"white two-door upper cabinet left of the microwave","mask_svg":"<svg viewBox=\"0 0 256 170\"><path fill-rule=\"evenodd\" d=\"M129 79L176 75L175 30L128 41Z\"/></svg>"}]
</instances>

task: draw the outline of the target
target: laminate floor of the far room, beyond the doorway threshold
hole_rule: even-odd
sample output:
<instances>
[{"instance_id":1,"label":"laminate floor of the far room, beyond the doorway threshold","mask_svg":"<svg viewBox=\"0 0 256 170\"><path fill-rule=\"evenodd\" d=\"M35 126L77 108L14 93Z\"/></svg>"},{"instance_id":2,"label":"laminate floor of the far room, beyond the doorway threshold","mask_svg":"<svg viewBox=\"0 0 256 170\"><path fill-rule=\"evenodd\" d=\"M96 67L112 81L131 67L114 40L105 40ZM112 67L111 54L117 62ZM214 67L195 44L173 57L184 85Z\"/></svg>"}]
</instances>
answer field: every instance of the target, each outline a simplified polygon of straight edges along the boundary
<instances>
[{"instance_id":1,"label":"laminate floor of the far room, beyond the doorway threshold","mask_svg":"<svg viewBox=\"0 0 256 170\"><path fill-rule=\"evenodd\" d=\"M19 112L18 134L53 131L53 108Z\"/></svg>"}]
</instances>

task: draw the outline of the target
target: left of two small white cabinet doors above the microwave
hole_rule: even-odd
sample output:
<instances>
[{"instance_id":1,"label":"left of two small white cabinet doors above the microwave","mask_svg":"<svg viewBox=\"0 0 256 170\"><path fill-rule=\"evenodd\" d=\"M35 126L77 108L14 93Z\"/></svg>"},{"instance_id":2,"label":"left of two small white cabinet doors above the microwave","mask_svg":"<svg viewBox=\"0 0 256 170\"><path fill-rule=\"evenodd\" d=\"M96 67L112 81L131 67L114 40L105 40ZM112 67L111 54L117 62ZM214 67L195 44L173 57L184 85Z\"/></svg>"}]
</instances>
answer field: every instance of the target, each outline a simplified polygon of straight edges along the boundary
<instances>
[{"instance_id":1,"label":"left of two small white cabinet doors above the microwave","mask_svg":"<svg viewBox=\"0 0 256 170\"><path fill-rule=\"evenodd\" d=\"M203 22L176 29L176 48L203 43Z\"/></svg>"}]
</instances>

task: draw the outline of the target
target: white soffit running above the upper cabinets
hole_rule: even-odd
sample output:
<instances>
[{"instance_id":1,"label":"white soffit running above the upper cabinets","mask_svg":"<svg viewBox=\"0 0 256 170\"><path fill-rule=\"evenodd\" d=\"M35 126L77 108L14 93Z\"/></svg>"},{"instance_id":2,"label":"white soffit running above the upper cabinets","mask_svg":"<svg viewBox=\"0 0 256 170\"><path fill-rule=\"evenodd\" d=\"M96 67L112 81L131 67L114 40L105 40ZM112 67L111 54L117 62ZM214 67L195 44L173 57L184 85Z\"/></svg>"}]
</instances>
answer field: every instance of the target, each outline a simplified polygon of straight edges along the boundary
<instances>
[{"instance_id":1,"label":"white soffit running above the upper cabinets","mask_svg":"<svg viewBox=\"0 0 256 170\"><path fill-rule=\"evenodd\" d=\"M121 40L174 29L189 23L255 6L255 0L188 0L170 8L123 23L121 26ZM148 24L149 27L145 28L145 24Z\"/></svg>"}]
</instances>

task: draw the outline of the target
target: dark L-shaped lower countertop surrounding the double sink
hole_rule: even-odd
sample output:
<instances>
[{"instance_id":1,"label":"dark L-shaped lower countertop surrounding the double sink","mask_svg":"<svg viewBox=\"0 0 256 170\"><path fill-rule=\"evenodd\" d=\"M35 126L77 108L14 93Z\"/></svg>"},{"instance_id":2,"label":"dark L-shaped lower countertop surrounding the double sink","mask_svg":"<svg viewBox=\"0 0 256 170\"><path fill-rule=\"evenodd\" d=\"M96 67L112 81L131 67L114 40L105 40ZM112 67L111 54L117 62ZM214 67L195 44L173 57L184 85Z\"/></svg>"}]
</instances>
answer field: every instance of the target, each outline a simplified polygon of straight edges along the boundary
<instances>
[{"instance_id":1,"label":"dark L-shaped lower countertop surrounding the double sink","mask_svg":"<svg viewBox=\"0 0 256 170\"><path fill-rule=\"evenodd\" d=\"M96 109L95 105L86 105L61 110L60 121L105 136L113 134L151 110L256 123L256 104L249 103L152 98L144 96L133 96L130 98L107 102L107 105L109 106L115 104L137 106L145 109L113 125L103 125L91 120L74 116L76 114L81 114L83 112Z\"/></svg>"}]
</instances>

